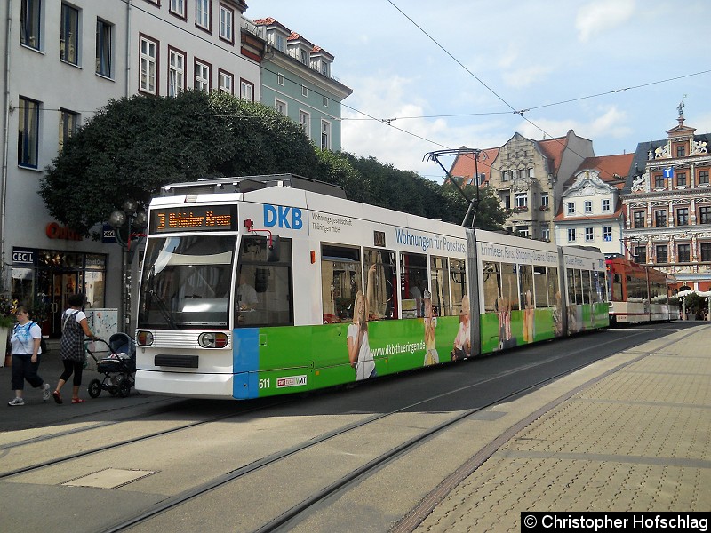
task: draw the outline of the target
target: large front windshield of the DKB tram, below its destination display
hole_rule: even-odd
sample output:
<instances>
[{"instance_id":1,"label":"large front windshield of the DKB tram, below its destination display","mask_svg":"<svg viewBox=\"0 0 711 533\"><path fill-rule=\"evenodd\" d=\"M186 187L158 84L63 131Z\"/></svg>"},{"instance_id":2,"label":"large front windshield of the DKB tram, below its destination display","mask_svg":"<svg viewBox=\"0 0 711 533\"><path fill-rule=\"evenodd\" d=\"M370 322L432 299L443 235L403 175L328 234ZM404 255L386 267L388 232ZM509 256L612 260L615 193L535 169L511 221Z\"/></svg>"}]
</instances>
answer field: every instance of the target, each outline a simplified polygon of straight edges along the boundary
<instances>
[{"instance_id":1,"label":"large front windshield of the DKB tram, below its destination display","mask_svg":"<svg viewBox=\"0 0 711 533\"><path fill-rule=\"evenodd\" d=\"M235 235L148 240L139 328L227 328Z\"/></svg>"}]
</instances>

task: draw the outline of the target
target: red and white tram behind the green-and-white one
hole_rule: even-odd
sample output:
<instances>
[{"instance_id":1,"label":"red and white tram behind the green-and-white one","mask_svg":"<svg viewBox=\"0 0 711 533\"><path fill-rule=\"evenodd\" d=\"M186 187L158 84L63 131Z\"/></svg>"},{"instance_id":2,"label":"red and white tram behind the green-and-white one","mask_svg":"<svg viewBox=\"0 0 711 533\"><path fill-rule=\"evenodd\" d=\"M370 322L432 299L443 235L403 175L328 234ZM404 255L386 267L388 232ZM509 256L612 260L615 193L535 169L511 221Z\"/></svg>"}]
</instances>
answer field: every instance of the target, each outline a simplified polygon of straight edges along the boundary
<instances>
[{"instance_id":1,"label":"red and white tram behind the green-and-white one","mask_svg":"<svg viewBox=\"0 0 711 533\"><path fill-rule=\"evenodd\" d=\"M670 322L679 309L669 303L669 284L674 277L619 255L605 259L611 324Z\"/></svg>"}]
</instances>

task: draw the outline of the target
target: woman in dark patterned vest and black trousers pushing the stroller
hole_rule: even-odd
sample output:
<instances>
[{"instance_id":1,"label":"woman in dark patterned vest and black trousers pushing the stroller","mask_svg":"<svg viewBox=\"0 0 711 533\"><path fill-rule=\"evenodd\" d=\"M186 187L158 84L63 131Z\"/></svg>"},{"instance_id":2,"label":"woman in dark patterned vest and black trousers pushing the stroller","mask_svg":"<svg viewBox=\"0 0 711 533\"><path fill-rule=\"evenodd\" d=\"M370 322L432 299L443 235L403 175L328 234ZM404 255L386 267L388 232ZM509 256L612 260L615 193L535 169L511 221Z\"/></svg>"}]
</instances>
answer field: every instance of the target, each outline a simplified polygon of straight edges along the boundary
<instances>
[{"instance_id":1,"label":"woman in dark patterned vest and black trousers pushing the stroller","mask_svg":"<svg viewBox=\"0 0 711 533\"><path fill-rule=\"evenodd\" d=\"M69 307L62 316L60 355L62 363L64 363L64 371L60 376L57 388L52 393L52 397L57 403L63 402L60 394L61 387L67 383L72 373L74 374L72 403L85 402L79 398L79 386L82 385L82 371L84 370L84 336L92 340L96 340L96 336L89 329L86 314L82 311L84 301L84 294L72 294L67 299Z\"/></svg>"}]
</instances>

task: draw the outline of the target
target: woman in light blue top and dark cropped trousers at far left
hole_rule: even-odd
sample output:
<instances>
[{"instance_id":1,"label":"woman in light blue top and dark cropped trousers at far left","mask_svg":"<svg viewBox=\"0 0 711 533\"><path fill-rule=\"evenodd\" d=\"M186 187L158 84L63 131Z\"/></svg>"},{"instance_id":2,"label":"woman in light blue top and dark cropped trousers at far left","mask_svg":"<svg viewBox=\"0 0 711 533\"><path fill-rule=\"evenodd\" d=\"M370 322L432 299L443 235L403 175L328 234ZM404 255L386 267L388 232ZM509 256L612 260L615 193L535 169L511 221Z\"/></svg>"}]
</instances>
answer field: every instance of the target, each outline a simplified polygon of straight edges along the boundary
<instances>
[{"instance_id":1,"label":"woman in light blue top and dark cropped trousers at far left","mask_svg":"<svg viewBox=\"0 0 711 533\"><path fill-rule=\"evenodd\" d=\"M28 310L19 306L15 312L18 323L12 330L10 345L12 346L12 389L15 397L7 404L11 407L25 405L22 397L25 380L35 388L42 388L44 402L50 399L50 384L37 374L39 370L42 348L42 328L36 322L29 320Z\"/></svg>"}]
</instances>

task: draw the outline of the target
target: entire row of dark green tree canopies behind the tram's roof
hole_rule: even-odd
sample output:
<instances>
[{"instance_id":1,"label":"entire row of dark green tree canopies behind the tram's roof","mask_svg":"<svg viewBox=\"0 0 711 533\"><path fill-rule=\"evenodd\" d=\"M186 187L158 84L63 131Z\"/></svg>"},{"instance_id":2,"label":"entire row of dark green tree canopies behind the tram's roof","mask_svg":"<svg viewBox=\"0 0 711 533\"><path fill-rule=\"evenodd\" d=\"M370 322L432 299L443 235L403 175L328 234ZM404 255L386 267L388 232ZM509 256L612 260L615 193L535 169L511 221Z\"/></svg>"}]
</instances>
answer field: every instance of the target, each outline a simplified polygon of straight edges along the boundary
<instances>
[{"instance_id":1,"label":"entire row of dark green tree canopies behind the tram's roof","mask_svg":"<svg viewBox=\"0 0 711 533\"><path fill-rule=\"evenodd\" d=\"M110 100L65 142L40 195L54 219L96 238L95 227L124 200L146 207L168 183L276 173L337 184L351 200L431 219L460 224L467 212L451 186L374 157L320 150L271 107L202 91ZM483 189L479 208L476 227L497 229L506 219L491 191Z\"/></svg>"}]
</instances>

